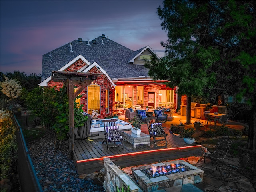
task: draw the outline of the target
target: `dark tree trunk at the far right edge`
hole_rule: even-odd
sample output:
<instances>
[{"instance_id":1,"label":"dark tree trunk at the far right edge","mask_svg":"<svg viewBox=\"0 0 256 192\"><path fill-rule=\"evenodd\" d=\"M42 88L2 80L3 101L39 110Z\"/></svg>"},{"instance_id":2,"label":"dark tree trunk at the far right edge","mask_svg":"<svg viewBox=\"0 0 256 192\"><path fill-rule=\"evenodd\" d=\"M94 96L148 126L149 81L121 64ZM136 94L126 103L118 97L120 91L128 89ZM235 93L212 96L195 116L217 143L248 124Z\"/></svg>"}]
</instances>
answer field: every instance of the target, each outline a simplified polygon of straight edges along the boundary
<instances>
[{"instance_id":1,"label":"dark tree trunk at the far right edge","mask_svg":"<svg viewBox=\"0 0 256 192\"><path fill-rule=\"evenodd\" d=\"M247 149L251 149L255 151L255 142L256 142L256 105L252 106L252 110L250 112L250 120L249 120L249 133L248 133L248 141L247 141Z\"/></svg>"}]
</instances>

